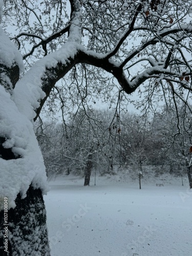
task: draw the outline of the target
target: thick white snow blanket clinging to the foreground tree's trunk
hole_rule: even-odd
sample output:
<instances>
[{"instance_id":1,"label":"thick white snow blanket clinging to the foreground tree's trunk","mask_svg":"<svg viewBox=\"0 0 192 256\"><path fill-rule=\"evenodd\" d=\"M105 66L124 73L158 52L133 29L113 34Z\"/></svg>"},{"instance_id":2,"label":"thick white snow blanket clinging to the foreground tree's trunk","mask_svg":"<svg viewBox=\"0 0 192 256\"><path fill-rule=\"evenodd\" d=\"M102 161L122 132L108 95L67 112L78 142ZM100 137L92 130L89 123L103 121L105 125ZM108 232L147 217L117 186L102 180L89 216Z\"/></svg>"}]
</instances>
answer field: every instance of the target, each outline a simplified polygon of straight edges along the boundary
<instances>
[{"instance_id":1,"label":"thick white snow blanket clinging to the foreground tree's trunk","mask_svg":"<svg viewBox=\"0 0 192 256\"><path fill-rule=\"evenodd\" d=\"M32 183L34 188L47 192L47 177L42 155L35 138L33 124L19 113L11 96L0 86L0 136L7 138L5 148L12 147L20 158L0 158L0 195L8 198L9 208L15 207L14 200L20 193L23 198ZM2 201L2 200L1 200ZM0 205L0 210L3 205Z\"/></svg>"}]
</instances>

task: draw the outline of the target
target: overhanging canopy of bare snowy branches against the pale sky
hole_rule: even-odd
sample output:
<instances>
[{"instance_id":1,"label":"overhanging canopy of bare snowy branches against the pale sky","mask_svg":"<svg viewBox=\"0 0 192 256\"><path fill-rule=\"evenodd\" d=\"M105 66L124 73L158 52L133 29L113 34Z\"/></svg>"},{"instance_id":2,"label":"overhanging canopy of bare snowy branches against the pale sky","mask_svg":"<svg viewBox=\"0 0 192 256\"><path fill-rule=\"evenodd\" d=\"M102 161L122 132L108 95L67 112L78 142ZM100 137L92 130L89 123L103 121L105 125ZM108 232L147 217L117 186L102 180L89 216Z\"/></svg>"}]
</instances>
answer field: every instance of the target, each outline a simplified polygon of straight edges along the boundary
<instances>
[{"instance_id":1,"label":"overhanging canopy of bare snowy branches against the pale sky","mask_svg":"<svg viewBox=\"0 0 192 256\"><path fill-rule=\"evenodd\" d=\"M3 13L28 69L41 67L35 118L47 98L66 114L94 98L123 105L137 88L153 109L161 100L189 107L191 1L5 1Z\"/></svg>"}]
</instances>

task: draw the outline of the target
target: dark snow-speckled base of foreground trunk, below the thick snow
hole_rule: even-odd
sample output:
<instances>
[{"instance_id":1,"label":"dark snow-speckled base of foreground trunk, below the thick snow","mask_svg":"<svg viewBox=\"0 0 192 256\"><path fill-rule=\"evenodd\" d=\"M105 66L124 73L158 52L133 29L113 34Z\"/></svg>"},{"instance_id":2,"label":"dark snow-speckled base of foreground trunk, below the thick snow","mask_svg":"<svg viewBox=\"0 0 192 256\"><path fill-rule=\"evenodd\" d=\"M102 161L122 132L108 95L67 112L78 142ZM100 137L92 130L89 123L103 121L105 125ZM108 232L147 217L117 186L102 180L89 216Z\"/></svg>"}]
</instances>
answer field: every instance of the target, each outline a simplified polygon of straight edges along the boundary
<instances>
[{"instance_id":1,"label":"dark snow-speckled base of foreground trunk, below the thick snow","mask_svg":"<svg viewBox=\"0 0 192 256\"><path fill-rule=\"evenodd\" d=\"M41 190L30 186L27 197L22 199L18 194L15 203L16 207L8 210L8 243L5 239L6 229L1 228L0 255L49 256L46 210ZM0 212L0 223L1 227L6 227L4 210Z\"/></svg>"}]
</instances>

